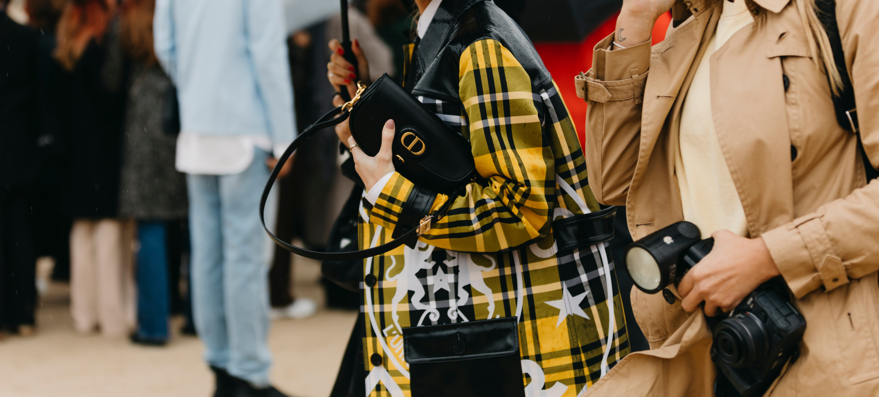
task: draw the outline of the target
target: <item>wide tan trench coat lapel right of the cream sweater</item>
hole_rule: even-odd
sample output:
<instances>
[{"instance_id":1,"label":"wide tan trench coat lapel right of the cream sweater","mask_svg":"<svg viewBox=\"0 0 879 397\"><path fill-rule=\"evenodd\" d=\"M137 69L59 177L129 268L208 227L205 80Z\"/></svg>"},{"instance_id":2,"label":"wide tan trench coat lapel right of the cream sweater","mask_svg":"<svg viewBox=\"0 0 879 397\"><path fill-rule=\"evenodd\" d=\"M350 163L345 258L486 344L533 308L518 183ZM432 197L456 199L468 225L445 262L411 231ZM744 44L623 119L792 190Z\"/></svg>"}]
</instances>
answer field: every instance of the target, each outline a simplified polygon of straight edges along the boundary
<instances>
[{"instance_id":1,"label":"wide tan trench coat lapel right of the cream sweater","mask_svg":"<svg viewBox=\"0 0 879 397\"><path fill-rule=\"evenodd\" d=\"M770 49L766 43L765 33L752 24L711 57L711 113L717 141L751 237L794 219L790 137L777 133L788 131L781 59L766 56ZM760 92L759 99L754 92Z\"/></svg>"}]
</instances>

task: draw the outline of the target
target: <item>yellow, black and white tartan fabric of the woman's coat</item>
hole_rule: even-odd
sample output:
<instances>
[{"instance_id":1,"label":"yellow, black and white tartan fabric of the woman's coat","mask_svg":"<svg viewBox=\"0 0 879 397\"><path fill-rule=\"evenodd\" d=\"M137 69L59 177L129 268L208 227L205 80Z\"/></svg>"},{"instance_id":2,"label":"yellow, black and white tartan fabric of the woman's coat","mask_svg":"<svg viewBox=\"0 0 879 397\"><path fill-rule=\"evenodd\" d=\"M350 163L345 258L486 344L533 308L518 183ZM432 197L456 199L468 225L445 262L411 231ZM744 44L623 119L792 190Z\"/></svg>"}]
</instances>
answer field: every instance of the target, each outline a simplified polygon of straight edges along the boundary
<instances>
[{"instance_id":1,"label":"yellow, black and white tartan fabric of the woman's coat","mask_svg":"<svg viewBox=\"0 0 879 397\"><path fill-rule=\"evenodd\" d=\"M461 129L484 181L414 249L364 262L378 280L361 284L367 392L410 395L402 328L517 316L526 395L576 396L629 350L607 245L559 252L551 232L555 217L599 210L576 131L555 83L534 86L497 40L463 52L459 79L459 103L418 99ZM361 201L361 248L391 239L412 187L395 173L374 206Z\"/></svg>"}]
</instances>

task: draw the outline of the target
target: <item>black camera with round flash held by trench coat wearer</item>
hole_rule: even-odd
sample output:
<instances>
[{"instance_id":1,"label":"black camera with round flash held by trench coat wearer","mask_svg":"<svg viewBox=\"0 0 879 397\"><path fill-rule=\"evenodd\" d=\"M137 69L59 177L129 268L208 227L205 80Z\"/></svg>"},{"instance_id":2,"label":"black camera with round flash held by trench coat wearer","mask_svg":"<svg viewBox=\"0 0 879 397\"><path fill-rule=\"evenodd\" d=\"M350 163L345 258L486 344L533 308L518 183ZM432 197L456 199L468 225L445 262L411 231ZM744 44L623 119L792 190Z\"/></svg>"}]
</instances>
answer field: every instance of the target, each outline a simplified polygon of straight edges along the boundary
<instances>
[{"instance_id":1,"label":"black camera with round flash held by trench coat wearer","mask_svg":"<svg viewBox=\"0 0 879 397\"><path fill-rule=\"evenodd\" d=\"M625 268L638 289L655 294L677 285L713 246L695 224L678 222L628 245ZM743 397L762 395L797 354L806 320L791 305L781 276L760 284L727 314L706 318L714 335L711 361Z\"/></svg>"}]
</instances>

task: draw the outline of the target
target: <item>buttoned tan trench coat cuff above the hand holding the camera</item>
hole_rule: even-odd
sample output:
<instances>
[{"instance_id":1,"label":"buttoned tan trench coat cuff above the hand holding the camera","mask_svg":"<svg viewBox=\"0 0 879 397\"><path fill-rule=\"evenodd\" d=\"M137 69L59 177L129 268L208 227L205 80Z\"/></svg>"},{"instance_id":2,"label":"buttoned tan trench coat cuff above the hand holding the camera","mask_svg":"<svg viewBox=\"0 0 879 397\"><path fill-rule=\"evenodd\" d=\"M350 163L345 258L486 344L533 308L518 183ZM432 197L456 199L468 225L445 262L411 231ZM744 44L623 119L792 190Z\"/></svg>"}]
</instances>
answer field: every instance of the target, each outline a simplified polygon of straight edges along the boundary
<instances>
[{"instance_id":1,"label":"buttoned tan trench coat cuff above the hand holding the camera","mask_svg":"<svg viewBox=\"0 0 879 397\"><path fill-rule=\"evenodd\" d=\"M796 298L818 287L831 291L848 283L846 266L836 254L821 215L797 218L762 237Z\"/></svg>"}]
</instances>

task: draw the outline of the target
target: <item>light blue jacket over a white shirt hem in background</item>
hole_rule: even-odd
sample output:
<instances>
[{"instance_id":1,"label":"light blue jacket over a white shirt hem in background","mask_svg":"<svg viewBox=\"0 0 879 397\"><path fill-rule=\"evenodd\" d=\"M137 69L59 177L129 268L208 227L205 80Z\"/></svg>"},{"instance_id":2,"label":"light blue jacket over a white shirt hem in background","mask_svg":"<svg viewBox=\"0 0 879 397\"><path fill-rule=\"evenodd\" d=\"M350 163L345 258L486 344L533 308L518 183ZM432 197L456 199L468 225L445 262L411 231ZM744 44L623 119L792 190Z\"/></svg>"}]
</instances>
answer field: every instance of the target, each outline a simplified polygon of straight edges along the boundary
<instances>
[{"instance_id":1,"label":"light blue jacket over a white shirt hem in background","mask_svg":"<svg viewBox=\"0 0 879 397\"><path fill-rule=\"evenodd\" d=\"M294 139L280 0L156 0L156 57L177 85L180 127Z\"/></svg>"}]
</instances>

